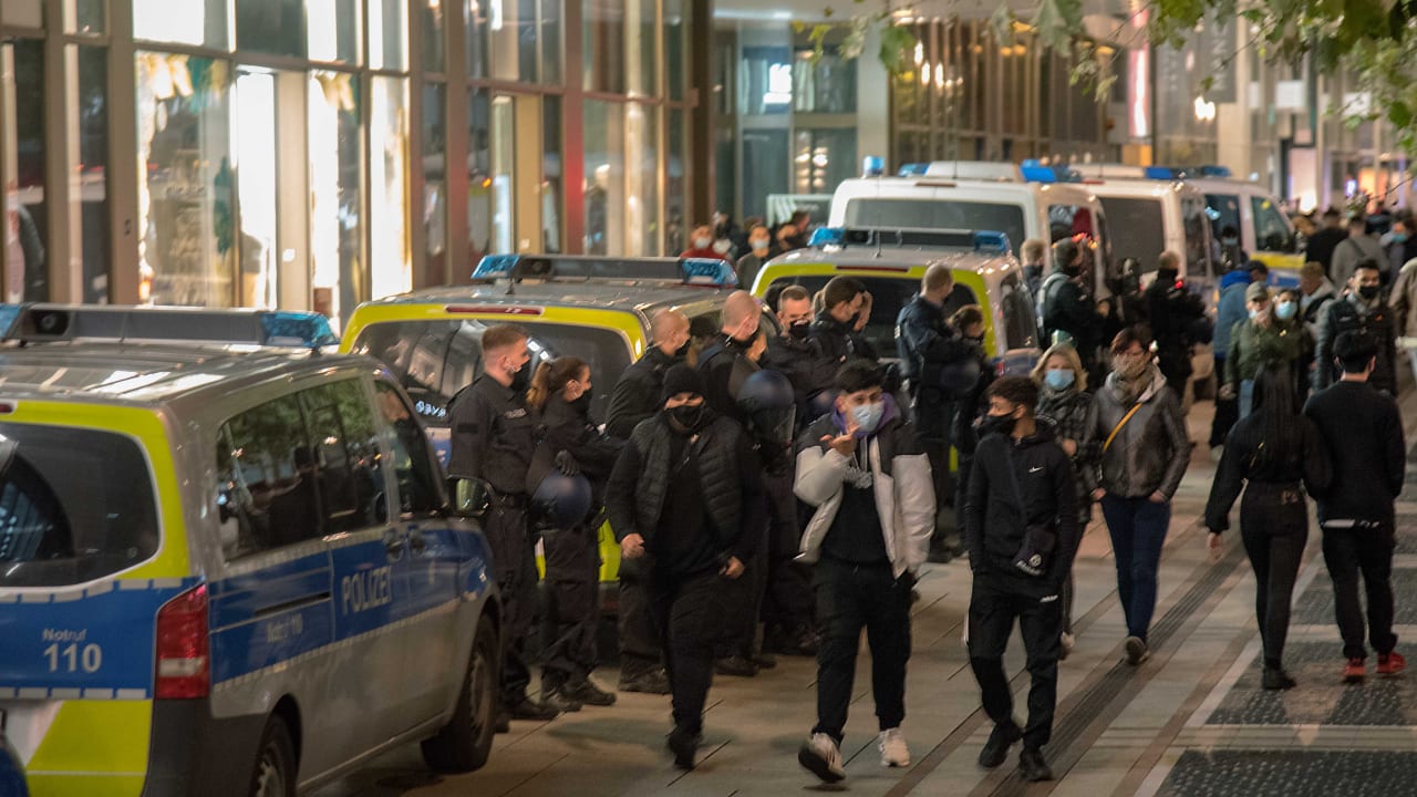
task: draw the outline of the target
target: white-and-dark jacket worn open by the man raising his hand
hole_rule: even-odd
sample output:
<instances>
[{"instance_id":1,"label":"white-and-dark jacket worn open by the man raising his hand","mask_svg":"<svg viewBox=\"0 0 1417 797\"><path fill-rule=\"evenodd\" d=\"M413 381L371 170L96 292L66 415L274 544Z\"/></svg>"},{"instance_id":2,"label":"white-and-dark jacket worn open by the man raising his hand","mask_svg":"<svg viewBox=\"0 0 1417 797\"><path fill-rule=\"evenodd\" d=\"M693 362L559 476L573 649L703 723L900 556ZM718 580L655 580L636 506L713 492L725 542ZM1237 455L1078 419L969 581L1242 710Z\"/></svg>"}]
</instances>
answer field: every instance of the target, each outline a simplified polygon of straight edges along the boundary
<instances>
[{"instance_id":1,"label":"white-and-dark jacket worn open by the man raising his hand","mask_svg":"<svg viewBox=\"0 0 1417 797\"><path fill-rule=\"evenodd\" d=\"M911 424L900 417L890 401L880 430L859 444L870 452L871 486L876 511L886 537L886 553L898 579L925 563L930 535L935 530L935 488L930 458ZM836 437L843 425L836 413L822 416L798 438L798 468L794 492L816 511L802 533L798 559L815 563L822 554L822 540L832 529L842 508L842 489L850 459L832 450L822 438Z\"/></svg>"}]
</instances>

